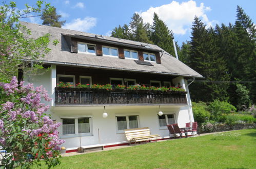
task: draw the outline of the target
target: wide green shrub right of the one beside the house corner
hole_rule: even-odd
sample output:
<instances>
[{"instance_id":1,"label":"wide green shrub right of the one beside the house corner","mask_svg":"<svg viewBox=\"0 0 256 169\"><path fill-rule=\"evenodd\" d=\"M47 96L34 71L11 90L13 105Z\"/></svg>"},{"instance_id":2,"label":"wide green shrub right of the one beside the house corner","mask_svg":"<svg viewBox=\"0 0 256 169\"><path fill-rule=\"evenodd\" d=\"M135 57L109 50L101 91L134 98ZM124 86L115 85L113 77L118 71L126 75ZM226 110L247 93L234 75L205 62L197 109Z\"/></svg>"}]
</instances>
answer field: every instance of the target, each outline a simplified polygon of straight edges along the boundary
<instances>
[{"instance_id":1,"label":"wide green shrub right of the one beside the house corner","mask_svg":"<svg viewBox=\"0 0 256 169\"><path fill-rule=\"evenodd\" d=\"M208 109L211 113L211 119L215 121L219 121L223 114L229 114L237 110L232 104L220 100L210 102Z\"/></svg>"}]
</instances>

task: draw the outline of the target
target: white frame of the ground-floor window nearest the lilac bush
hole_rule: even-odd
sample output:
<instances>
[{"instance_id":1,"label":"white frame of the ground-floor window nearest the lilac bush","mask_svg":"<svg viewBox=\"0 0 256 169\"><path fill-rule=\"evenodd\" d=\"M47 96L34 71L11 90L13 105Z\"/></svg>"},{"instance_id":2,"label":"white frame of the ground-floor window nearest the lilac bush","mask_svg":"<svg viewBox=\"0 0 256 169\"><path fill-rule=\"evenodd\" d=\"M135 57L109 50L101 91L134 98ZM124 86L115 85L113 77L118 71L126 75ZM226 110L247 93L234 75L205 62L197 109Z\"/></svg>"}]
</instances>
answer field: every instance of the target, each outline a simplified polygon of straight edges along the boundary
<instances>
[{"instance_id":1,"label":"white frame of the ground-floor window nearest the lilac bush","mask_svg":"<svg viewBox=\"0 0 256 169\"><path fill-rule=\"evenodd\" d=\"M89 118L89 128L90 128L90 133L78 133L78 118ZM74 134L63 134L63 119L75 119L75 133ZM79 137L81 136L93 136L92 132L92 117L91 116L82 116L82 117L64 117L61 118L61 131L60 131L60 137L61 138L70 138L70 137Z\"/></svg>"}]
</instances>

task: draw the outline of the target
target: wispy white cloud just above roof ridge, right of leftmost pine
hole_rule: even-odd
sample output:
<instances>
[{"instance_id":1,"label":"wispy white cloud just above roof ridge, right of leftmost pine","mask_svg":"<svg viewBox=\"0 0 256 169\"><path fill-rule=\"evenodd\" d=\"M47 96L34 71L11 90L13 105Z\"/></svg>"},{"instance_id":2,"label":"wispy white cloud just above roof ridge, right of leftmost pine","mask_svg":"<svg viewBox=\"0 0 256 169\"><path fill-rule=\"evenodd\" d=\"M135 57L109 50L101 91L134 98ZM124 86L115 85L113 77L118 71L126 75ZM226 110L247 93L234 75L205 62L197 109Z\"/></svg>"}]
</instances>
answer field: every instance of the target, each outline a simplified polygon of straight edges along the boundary
<instances>
[{"instance_id":1,"label":"wispy white cloud just above roof ridge, right of leftmost pine","mask_svg":"<svg viewBox=\"0 0 256 169\"><path fill-rule=\"evenodd\" d=\"M95 17L85 17L84 19L76 18L72 22L64 25L63 28L76 31L86 32L96 26L97 19Z\"/></svg>"}]
</instances>

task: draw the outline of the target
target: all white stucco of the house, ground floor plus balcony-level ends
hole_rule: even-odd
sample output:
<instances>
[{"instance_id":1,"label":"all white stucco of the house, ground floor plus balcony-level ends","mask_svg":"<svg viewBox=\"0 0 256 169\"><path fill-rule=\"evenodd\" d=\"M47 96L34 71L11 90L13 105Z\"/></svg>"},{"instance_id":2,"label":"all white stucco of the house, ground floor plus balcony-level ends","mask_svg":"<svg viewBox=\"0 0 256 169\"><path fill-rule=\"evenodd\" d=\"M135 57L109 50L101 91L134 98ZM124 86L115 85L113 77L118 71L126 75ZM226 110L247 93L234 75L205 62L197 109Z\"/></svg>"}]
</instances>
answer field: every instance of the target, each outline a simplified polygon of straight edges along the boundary
<instances>
[{"instance_id":1,"label":"all white stucco of the house, ground floor plus balcony-level ends","mask_svg":"<svg viewBox=\"0 0 256 169\"><path fill-rule=\"evenodd\" d=\"M44 70L41 70L44 71ZM53 66L51 70L46 71L42 75L28 76L24 75L25 83L33 83L34 86L43 85L48 91L49 96L54 99L54 88L56 85L56 69ZM183 77L178 77L173 79L173 83L180 85L188 91L187 82ZM189 95L187 96L190 102ZM47 104L54 105L54 100L52 102L47 102ZM174 114L175 122L178 122L180 128L185 127L185 123L190 120L193 121L192 109L188 111L187 105L163 105L161 106L161 111L164 114ZM107 118L103 118L102 114L104 112L103 106L100 107L51 107L47 113L51 114L53 120L57 122L62 122L62 118L78 118L78 117L91 117L92 124L92 135L82 136L81 144L82 146L102 144L120 144L126 143L126 137L124 133L118 133L116 127L116 116L128 116L137 115L139 116L139 127L149 127L151 134L159 134L162 138L169 137L169 131L167 127L165 129L160 128L158 112L159 106L116 106L116 107L106 107L106 112L108 113ZM190 116L189 116L190 112ZM191 118L191 119L190 119ZM99 133L100 140L99 140ZM68 150L77 149L80 146L80 139L77 135L62 136L62 126L58 129L60 132L60 138L65 139L66 142L63 146L67 147Z\"/></svg>"}]
</instances>

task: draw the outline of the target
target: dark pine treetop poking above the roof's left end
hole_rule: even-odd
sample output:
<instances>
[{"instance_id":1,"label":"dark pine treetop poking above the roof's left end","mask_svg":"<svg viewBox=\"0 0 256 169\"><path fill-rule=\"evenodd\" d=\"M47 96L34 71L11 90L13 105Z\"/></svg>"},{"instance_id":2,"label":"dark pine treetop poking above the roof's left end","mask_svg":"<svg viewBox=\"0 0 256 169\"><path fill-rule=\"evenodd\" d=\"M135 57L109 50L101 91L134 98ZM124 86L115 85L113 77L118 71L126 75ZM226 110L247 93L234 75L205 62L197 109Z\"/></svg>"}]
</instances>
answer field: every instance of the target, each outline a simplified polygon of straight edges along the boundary
<instances>
[{"instance_id":1,"label":"dark pine treetop poking above the roof's left end","mask_svg":"<svg viewBox=\"0 0 256 169\"><path fill-rule=\"evenodd\" d=\"M43 25L61 28L66 22L66 20L59 21L61 17L62 15L57 15L56 8L53 7L51 11L44 12L41 19L43 20Z\"/></svg>"}]
</instances>

